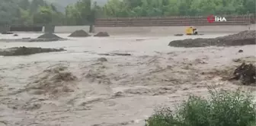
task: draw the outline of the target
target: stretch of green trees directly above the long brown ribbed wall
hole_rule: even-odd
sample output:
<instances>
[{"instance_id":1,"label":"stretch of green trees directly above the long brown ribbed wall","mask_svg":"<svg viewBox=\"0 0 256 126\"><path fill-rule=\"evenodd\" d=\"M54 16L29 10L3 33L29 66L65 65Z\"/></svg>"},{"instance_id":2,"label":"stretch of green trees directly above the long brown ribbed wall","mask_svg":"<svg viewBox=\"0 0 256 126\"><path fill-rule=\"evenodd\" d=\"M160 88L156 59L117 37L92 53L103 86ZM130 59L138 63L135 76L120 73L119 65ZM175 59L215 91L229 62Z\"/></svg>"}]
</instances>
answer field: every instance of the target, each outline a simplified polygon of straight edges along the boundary
<instances>
[{"instance_id":1,"label":"stretch of green trees directly above the long brown ribbed wall","mask_svg":"<svg viewBox=\"0 0 256 126\"><path fill-rule=\"evenodd\" d=\"M255 0L110 0L107 16L169 16L255 13Z\"/></svg>"}]
</instances>

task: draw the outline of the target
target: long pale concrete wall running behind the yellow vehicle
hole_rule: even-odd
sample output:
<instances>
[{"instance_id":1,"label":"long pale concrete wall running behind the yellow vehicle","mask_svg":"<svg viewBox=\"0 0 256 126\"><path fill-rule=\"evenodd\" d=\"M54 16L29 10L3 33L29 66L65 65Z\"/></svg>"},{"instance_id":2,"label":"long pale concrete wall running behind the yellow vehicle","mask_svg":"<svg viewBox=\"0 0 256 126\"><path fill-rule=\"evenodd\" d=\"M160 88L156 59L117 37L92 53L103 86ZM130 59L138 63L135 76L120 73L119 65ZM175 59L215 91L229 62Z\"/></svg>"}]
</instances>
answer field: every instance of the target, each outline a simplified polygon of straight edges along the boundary
<instances>
[{"instance_id":1,"label":"long pale concrete wall running behind the yellow vehicle","mask_svg":"<svg viewBox=\"0 0 256 126\"><path fill-rule=\"evenodd\" d=\"M186 27L95 27L95 33L106 31L110 35L134 34L134 35L169 35L184 33ZM238 33L244 30L256 30L256 24L242 26L197 26L199 33Z\"/></svg>"}]
</instances>

